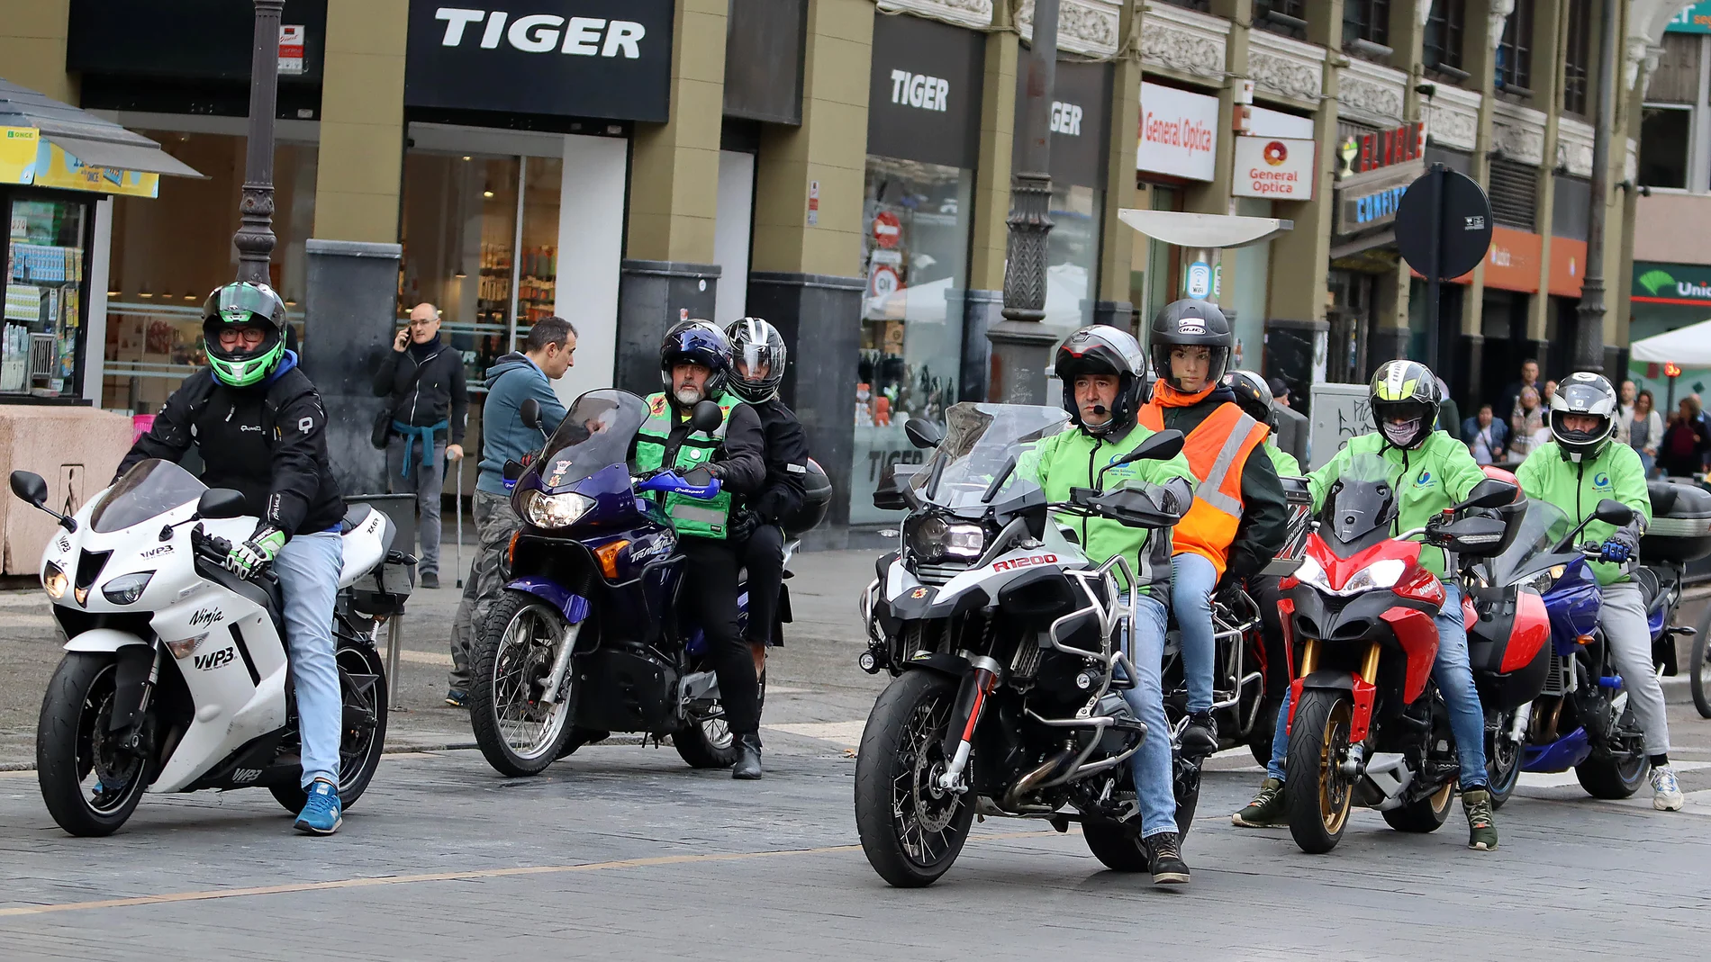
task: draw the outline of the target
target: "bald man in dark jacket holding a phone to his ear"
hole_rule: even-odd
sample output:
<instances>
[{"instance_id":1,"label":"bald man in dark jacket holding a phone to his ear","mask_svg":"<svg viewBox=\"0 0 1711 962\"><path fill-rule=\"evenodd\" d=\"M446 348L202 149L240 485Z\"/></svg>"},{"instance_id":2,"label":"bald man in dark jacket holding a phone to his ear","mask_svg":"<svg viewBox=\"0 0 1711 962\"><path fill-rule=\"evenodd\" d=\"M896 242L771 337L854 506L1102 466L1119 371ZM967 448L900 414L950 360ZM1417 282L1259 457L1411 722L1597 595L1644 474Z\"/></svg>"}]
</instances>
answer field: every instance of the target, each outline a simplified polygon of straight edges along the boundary
<instances>
[{"instance_id":1,"label":"bald man in dark jacket holding a phone to his ear","mask_svg":"<svg viewBox=\"0 0 1711 962\"><path fill-rule=\"evenodd\" d=\"M416 496L423 588L440 586L440 496L445 461L464 460L469 393L464 355L440 340L440 311L416 304L411 323L392 340L375 371L375 396L392 405L387 437L387 490Z\"/></svg>"}]
</instances>

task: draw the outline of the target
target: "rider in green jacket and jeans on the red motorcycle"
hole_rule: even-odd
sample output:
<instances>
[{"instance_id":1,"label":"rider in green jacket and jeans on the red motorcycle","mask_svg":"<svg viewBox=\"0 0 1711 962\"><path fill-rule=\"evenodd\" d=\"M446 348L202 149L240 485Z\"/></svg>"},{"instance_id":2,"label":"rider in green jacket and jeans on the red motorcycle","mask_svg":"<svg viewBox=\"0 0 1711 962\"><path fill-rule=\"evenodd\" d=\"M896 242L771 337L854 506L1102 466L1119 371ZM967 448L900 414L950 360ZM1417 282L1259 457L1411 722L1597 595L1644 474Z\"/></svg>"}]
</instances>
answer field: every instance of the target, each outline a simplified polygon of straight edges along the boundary
<instances>
[{"instance_id":1,"label":"rider in green jacket and jeans on the red motorcycle","mask_svg":"<svg viewBox=\"0 0 1711 962\"><path fill-rule=\"evenodd\" d=\"M1324 506L1324 496L1359 455L1377 455L1394 472L1396 531L1420 528L1444 509L1465 501L1473 485L1485 480L1485 472L1473 461L1468 446L1442 431L1436 431L1437 405L1442 400L1437 378L1415 361L1386 361L1372 374L1369 390L1376 434L1350 437L1335 458L1307 475L1312 490L1312 507ZM1468 665L1468 632L1461 620L1461 590L1454 572L1444 567L1444 550L1420 548L1420 566L1444 579L1444 607L1437 619L1437 663L1432 677L1449 707L1449 730L1456 736L1456 755L1461 762L1461 808L1468 817L1468 848L1492 851L1497 848L1497 825L1492 820L1490 793L1485 789L1485 713L1473 689L1473 670ZM1230 822L1249 829L1283 825L1283 757L1288 748L1288 695L1278 711L1276 735L1271 742L1271 764L1259 795Z\"/></svg>"}]
</instances>

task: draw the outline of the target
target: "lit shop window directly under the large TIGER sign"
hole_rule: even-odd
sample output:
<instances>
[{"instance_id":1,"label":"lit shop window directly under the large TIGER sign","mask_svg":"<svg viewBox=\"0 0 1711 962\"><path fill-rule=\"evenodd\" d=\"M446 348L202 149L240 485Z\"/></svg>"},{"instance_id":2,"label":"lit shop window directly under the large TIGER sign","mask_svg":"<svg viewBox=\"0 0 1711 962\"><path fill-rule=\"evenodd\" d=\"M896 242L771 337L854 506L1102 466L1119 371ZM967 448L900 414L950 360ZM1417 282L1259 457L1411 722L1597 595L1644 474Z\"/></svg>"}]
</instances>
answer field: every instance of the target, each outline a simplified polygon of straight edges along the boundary
<instances>
[{"instance_id":1,"label":"lit shop window directly under the large TIGER sign","mask_svg":"<svg viewBox=\"0 0 1711 962\"><path fill-rule=\"evenodd\" d=\"M563 171L559 157L412 149L404 159L399 316L440 308L440 337L464 352L474 393L556 308Z\"/></svg>"}]
</instances>

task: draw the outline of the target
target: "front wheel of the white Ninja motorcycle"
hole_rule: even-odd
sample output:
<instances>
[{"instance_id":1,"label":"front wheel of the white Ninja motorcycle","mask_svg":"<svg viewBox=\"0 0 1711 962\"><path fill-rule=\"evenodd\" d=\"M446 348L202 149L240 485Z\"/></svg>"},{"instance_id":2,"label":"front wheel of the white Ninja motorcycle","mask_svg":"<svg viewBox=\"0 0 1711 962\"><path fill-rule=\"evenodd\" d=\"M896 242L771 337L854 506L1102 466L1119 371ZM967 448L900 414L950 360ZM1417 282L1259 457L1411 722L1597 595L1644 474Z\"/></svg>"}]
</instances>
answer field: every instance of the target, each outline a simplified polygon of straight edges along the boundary
<instances>
[{"instance_id":1,"label":"front wheel of the white Ninja motorcycle","mask_svg":"<svg viewBox=\"0 0 1711 962\"><path fill-rule=\"evenodd\" d=\"M36 781L48 813L74 836L116 832L152 779L154 714L144 721L137 750L120 743L123 733L110 731L115 675L111 654L72 651L41 699Z\"/></svg>"}]
</instances>

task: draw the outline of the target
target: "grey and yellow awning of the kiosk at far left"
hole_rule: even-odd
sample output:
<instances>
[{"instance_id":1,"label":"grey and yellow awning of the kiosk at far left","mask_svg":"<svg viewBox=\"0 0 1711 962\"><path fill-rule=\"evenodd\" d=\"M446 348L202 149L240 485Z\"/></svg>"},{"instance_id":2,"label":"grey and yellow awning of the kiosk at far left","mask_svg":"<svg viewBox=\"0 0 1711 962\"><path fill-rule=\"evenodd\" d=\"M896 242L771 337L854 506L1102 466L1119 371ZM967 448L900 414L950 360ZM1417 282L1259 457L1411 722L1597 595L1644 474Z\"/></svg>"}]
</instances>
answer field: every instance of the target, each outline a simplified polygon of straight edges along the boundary
<instances>
[{"instance_id":1,"label":"grey and yellow awning of the kiosk at far left","mask_svg":"<svg viewBox=\"0 0 1711 962\"><path fill-rule=\"evenodd\" d=\"M19 164L17 173L5 178L7 183L39 183L36 178L55 166L68 167L72 173L82 167L101 169L84 178L89 186L74 190L103 190L99 185L149 174L204 178L183 161L161 150L154 140L9 80L0 80L0 128L21 132L9 133L9 140L29 140L22 133L33 128L41 150L38 164ZM26 145L14 144L14 147ZM60 154L53 154L53 149ZM127 173L133 176L123 178ZM51 186L70 185L55 181Z\"/></svg>"}]
</instances>

